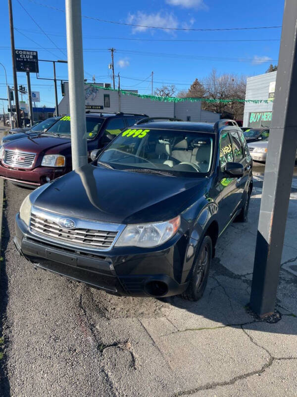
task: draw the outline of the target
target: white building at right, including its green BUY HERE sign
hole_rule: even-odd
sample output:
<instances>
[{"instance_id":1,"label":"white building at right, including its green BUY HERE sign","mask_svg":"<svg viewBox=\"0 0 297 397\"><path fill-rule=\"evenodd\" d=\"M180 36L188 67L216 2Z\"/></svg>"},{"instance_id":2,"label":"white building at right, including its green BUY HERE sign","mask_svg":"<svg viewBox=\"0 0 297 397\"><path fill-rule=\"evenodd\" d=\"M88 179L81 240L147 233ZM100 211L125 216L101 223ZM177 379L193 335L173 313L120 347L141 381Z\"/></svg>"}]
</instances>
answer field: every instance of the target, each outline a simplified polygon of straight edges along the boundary
<instances>
[{"instance_id":1,"label":"white building at right, including its green BUY HERE sign","mask_svg":"<svg viewBox=\"0 0 297 397\"><path fill-rule=\"evenodd\" d=\"M267 128L272 118L276 71L247 78L246 100L265 99L268 103L245 103L243 127Z\"/></svg>"}]
</instances>

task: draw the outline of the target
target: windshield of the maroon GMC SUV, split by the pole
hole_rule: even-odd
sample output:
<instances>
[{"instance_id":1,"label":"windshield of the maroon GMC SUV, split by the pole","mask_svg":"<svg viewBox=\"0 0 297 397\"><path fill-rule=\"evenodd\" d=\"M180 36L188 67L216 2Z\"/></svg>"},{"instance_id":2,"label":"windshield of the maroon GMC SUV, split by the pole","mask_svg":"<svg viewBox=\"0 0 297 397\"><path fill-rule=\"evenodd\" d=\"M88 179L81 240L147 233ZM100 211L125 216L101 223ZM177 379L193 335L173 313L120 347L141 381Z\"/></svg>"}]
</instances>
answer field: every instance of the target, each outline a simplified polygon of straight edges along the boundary
<instances>
[{"instance_id":1,"label":"windshield of the maroon GMC SUV, split by the pole","mask_svg":"<svg viewBox=\"0 0 297 397\"><path fill-rule=\"evenodd\" d=\"M98 134L104 119L97 117L86 117L87 137L95 138ZM47 133L57 133L59 135L67 135L70 137L70 116L62 117L56 122Z\"/></svg>"}]
</instances>

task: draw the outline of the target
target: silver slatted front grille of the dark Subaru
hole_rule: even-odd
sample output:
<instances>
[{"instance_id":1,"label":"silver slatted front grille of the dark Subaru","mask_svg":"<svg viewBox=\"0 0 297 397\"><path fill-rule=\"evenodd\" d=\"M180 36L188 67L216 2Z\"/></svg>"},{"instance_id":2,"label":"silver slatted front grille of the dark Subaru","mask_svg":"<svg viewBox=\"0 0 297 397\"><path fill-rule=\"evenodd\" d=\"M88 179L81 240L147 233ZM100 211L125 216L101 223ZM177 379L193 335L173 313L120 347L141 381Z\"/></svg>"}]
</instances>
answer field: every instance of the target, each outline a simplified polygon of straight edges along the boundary
<instances>
[{"instance_id":1,"label":"silver slatted front grille of the dark Subaru","mask_svg":"<svg viewBox=\"0 0 297 397\"><path fill-rule=\"evenodd\" d=\"M75 246L107 249L111 247L117 231L95 229L64 229L55 221L31 213L30 228L37 234L56 241L65 241Z\"/></svg>"}]
</instances>

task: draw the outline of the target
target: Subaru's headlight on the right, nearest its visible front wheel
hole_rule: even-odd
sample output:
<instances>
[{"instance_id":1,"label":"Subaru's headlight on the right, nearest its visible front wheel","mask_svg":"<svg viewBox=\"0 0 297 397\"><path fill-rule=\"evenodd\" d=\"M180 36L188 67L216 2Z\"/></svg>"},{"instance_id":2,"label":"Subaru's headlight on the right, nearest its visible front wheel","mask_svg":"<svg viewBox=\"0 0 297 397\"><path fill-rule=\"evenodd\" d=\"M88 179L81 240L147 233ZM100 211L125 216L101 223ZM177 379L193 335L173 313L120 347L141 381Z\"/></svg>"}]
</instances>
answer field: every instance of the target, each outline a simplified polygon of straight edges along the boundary
<instances>
[{"instance_id":1,"label":"Subaru's headlight on the right, nearest its visible front wheel","mask_svg":"<svg viewBox=\"0 0 297 397\"><path fill-rule=\"evenodd\" d=\"M117 247L156 247L169 240L178 231L180 216L165 222L127 225L115 243Z\"/></svg>"}]
</instances>

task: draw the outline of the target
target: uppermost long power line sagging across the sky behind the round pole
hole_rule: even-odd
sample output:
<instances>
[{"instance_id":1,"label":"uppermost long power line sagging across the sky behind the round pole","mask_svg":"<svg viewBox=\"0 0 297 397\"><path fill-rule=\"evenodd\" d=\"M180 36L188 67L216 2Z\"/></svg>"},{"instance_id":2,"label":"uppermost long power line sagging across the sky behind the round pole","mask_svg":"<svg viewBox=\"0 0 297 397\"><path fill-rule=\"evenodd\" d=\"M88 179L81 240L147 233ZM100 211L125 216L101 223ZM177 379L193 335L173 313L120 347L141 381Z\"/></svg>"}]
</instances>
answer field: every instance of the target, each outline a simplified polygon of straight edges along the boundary
<instances>
[{"instance_id":1,"label":"uppermost long power line sagging across the sky behind the round pole","mask_svg":"<svg viewBox=\"0 0 297 397\"><path fill-rule=\"evenodd\" d=\"M19 0L17 0L19 1ZM64 9L62 8L57 8L52 5L40 3L35 0L30 0L34 4L41 5L43 7L51 8L54 9L55 11L61 11L65 12ZM95 21L99 22L104 22L104 23L112 23L116 25L123 25L123 26L131 26L131 27L142 27L142 28L148 28L148 29L161 29L161 30L178 30L178 31L197 31L197 32L214 32L214 31L229 31L229 30L253 30L253 29L277 29L281 28L282 26L256 26L256 27L242 27L242 28L216 28L216 29L210 29L210 28L172 28L172 27L161 27L161 26L148 26L148 25L139 25L136 23L125 23L125 22L119 22L119 21L110 21L106 19L100 19L95 16L88 16L88 15L82 15L83 18L87 19L93 19Z\"/></svg>"}]
</instances>

